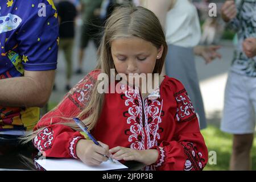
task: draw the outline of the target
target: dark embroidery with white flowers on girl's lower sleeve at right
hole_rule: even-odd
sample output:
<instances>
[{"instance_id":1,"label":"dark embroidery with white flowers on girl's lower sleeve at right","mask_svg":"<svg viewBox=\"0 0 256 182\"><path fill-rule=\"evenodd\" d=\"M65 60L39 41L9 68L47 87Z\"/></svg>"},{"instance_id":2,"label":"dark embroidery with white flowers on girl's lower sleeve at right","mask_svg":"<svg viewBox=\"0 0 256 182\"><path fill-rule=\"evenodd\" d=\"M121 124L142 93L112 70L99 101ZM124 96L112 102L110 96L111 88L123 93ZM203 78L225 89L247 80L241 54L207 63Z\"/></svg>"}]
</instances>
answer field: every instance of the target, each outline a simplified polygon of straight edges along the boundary
<instances>
[{"instance_id":1,"label":"dark embroidery with white flowers on girl's lower sleeve at right","mask_svg":"<svg viewBox=\"0 0 256 182\"><path fill-rule=\"evenodd\" d=\"M184 164L184 171L191 171L192 169L196 171L202 170L205 166L205 159L202 158L202 153L197 151L195 144L190 142L183 142L181 144L184 147L185 154L188 156Z\"/></svg>"}]
</instances>

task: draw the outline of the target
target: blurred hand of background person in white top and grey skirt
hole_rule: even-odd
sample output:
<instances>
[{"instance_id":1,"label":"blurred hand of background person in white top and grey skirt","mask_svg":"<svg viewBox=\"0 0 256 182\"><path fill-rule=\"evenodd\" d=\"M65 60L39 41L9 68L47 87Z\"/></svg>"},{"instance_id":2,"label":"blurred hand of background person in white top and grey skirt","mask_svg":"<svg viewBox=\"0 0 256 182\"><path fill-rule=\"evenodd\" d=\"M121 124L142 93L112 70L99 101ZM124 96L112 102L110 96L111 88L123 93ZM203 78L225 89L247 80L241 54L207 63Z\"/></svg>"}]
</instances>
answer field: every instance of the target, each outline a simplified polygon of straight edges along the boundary
<instances>
[{"instance_id":1,"label":"blurred hand of background person in white top and grey skirt","mask_svg":"<svg viewBox=\"0 0 256 182\"><path fill-rule=\"evenodd\" d=\"M221 46L196 46L194 48L194 53L196 55L199 55L203 57L205 60L205 63L208 64L212 62L214 59L218 57L218 59L221 59L221 55L217 52L217 50Z\"/></svg>"}]
</instances>

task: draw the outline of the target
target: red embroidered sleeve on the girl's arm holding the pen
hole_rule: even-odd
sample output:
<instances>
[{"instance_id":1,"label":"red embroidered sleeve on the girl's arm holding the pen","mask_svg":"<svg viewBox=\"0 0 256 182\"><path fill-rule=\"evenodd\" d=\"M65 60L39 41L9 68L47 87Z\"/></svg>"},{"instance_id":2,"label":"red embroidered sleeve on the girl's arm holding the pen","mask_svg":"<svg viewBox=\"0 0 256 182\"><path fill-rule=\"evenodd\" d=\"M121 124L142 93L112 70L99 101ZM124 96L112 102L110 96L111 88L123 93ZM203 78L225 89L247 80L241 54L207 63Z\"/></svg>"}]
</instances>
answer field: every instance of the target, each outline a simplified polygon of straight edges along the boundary
<instances>
[{"instance_id":1,"label":"red embroidered sleeve on the girl's arm holding the pen","mask_svg":"<svg viewBox=\"0 0 256 182\"><path fill-rule=\"evenodd\" d=\"M34 146L39 151L43 151L46 156L77 158L76 144L80 139L85 138L84 135L59 123L72 121L72 118L84 109L98 73L91 72L88 76L85 76L64 97L59 106L44 115L36 125L34 130L44 129L34 138Z\"/></svg>"}]
</instances>

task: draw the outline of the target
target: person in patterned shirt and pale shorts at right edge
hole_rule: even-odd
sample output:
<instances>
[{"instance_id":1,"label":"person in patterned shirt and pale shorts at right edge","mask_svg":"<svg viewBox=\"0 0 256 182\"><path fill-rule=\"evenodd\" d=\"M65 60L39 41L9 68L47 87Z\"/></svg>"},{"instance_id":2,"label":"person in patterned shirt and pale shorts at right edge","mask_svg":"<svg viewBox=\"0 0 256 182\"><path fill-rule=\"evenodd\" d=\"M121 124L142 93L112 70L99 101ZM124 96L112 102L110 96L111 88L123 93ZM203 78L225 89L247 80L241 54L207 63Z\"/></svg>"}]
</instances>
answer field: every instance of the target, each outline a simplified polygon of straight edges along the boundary
<instances>
[{"instance_id":1,"label":"person in patterned shirt and pale shorts at right edge","mask_svg":"<svg viewBox=\"0 0 256 182\"><path fill-rule=\"evenodd\" d=\"M226 1L222 19L237 31L238 44L225 89L221 130L233 134L231 170L249 170L256 111L256 1Z\"/></svg>"}]
</instances>

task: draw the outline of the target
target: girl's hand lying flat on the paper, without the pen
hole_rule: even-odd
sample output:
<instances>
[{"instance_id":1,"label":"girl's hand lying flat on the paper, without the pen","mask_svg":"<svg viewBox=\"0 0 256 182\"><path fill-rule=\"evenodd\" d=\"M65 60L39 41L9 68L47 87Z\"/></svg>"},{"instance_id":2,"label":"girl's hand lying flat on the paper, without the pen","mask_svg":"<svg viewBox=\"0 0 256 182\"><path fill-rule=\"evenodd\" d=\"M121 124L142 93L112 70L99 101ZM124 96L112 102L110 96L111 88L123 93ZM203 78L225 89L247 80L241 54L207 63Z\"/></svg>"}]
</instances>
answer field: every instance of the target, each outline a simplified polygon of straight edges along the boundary
<instances>
[{"instance_id":1,"label":"girl's hand lying flat on the paper, without the pen","mask_svg":"<svg viewBox=\"0 0 256 182\"><path fill-rule=\"evenodd\" d=\"M115 160L135 160L148 165L154 164L158 160L157 150L135 150L125 147L114 147L109 150L115 153L112 158Z\"/></svg>"}]
</instances>

